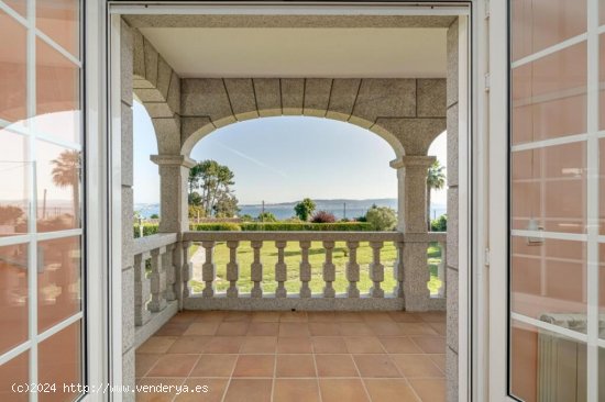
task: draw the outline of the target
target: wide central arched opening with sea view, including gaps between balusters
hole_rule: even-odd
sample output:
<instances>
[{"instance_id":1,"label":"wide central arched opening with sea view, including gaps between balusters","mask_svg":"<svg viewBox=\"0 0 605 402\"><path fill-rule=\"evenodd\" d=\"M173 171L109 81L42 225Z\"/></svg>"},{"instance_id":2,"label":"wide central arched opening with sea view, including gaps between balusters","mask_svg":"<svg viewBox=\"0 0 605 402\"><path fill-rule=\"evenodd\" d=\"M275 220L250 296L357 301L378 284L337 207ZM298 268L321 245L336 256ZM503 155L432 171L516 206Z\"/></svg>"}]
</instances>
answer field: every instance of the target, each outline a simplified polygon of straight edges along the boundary
<instances>
[{"instance_id":1,"label":"wide central arched opening with sea view, including gaps between balusters","mask_svg":"<svg viewBox=\"0 0 605 402\"><path fill-rule=\"evenodd\" d=\"M397 175L389 167L396 152L383 138L367 130L336 120L308 116L279 116L254 119L230 124L205 136L191 150L190 156L197 161L216 160L233 172L231 190L239 201L240 213L232 220L200 220L199 228L211 225L215 220L230 221L244 231L246 225L257 225L255 230L288 230L289 224L301 224L296 216L295 205L305 198L314 200L317 215L324 211L334 222L353 224L361 221L373 205L393 211L393 230L396 224ZM189 191L195 191L189 189ZM205 191L205 190L201 190ZM206 196L201 196L205 198ZM191 216L195 220L195 216ZM267 221L276 221L267 226ZM258 225L262 224L262 225ZM365 230L366 226L361 226ZM369 227L369 230L371 230ZM205 249L194 245L193 281L195 293L201 292L202 264ZM213 248L213 261L217 266L215 286L217 292L226 292L230 250L226 242L219 242ZM324 281L322 265L326 248L322 242L311 242L309 263L312 293L321 293ZM332 263L336 266L337 293L343 293L349 282L345 279L348 248L344 242L336 242L332 250ZM373 250L369 242L361 242L358 249L358 261L361 265L362 280L359 289L367 293L372 281L367 275L372 263ZM298 264L300 247L296 242L288 243L285 249L288 279L288 293L298 292ZM393 266L396 260L396 248L393 243L385 243L381 249L382 264L385 266L383 287L386 291L395 288ZM241 267L249 267L254 260L251 242L240 242L238 261ZM275 272L272 267L277 263L277 248L266 243L261 250L263 290L274 292L276 289ZM250 270L240 270L239 290L249 293L253 287Z\"/></svg>"}]
</instances>

